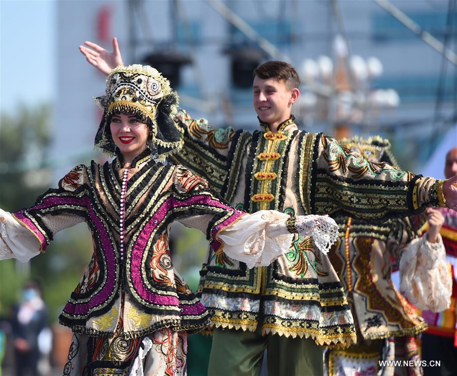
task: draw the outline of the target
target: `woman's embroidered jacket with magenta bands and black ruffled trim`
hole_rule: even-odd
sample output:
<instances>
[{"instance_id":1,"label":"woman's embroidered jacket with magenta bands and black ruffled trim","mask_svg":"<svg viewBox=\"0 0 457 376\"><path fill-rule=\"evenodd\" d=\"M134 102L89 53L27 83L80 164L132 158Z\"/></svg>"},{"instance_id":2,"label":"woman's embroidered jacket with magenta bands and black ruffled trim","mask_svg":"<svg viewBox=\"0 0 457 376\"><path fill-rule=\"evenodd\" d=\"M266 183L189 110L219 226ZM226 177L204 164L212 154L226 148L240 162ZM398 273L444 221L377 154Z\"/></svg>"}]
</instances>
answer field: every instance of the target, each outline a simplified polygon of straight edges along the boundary
<instances>
[{"instance_id":1,"label":"woman's embroidered jacket with magenta bands and black ruffled trim","mask_svg":"<svg viewBox=\"0 0 457 376\"><path fill-rule=\"evenodd\" d=\"M217 234L244 213L220 201L200 177L182 166L157 164L148 151L133 161L121 196L124 171L117 159L76 166L58 189L14 213L39 239L42 252L59 230L86 222L92 232L92 260L60 323L76 333L109 337L120 322L126 338L163 327L204 328L208 312L173 268L169 228L176 220L202 230L218 254Z\"/></svg>"}]
</instances>

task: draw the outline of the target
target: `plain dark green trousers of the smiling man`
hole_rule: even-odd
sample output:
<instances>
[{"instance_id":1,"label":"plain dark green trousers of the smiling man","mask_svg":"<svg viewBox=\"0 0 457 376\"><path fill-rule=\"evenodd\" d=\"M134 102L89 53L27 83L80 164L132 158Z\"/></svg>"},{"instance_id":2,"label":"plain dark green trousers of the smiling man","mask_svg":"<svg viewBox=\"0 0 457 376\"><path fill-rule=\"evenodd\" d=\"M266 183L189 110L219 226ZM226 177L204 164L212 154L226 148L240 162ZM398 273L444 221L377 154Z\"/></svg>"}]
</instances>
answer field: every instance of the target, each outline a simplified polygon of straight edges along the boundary
<instances>
[{"instance_id":1,"label":"plain dark green trousers of the smiling man","mask_svg":"<svg viewBox=\"0 0 457 376\"><path fill-rule=\"evenodd\" d=\"M310 338L263 336L255 332L215 329L208 376L260 376L267 349L268 376L321 376L323 348Z\"/></svg>"}]
</instances>

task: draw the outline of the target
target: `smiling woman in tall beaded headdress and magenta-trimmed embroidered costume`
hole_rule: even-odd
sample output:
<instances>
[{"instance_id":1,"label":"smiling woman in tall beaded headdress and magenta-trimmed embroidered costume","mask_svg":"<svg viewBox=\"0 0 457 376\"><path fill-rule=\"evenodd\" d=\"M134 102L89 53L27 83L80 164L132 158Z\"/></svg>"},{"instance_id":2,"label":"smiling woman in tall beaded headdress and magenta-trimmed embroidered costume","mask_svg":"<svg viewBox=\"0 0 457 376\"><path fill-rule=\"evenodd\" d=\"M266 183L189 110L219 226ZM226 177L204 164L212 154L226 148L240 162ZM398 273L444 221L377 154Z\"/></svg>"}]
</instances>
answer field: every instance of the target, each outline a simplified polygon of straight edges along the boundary
<instances>
[{"instance_id":1,"label":"smiling woman in tall beaded headdress and magenta-trimmed embroidered costume","mask_svg":"<svg viewBox=\"0 0 457 376\"><path fill-rule=\"evenodd\" d=\"M205 232L215 258L268 265L293 234L313 236L328 250L331 218L231 208L208 183L165 163L181 148L170 116L177 95L155 69L114 69L95 145L112 163L79 165L34 206L0 209L0 258L22 262L44 252L56 232L86 222L94 239L90 264L59 317L72 328L64 374L185 374L186 333L209 314L174 270L168 249L173 221ZM288 222L287 222L288 221Z\"/></svg>"}]
</instances>

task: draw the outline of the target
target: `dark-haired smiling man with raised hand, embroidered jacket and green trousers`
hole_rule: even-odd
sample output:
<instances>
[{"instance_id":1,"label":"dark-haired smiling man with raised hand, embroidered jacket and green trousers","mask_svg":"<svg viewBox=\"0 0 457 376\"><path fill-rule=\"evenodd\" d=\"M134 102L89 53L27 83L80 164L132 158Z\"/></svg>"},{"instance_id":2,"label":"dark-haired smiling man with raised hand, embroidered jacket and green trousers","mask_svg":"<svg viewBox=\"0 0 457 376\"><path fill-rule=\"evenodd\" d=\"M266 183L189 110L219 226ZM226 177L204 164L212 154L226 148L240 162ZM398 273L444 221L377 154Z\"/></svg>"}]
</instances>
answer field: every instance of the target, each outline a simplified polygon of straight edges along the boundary
<instances>
[{"instance_id":1,"label":"dark-haired smiling man with raised hand, embroidered jacket and green trousers","mask_svg":"<svg viewBox=\"0 0 457 376\"><path fill-rule=\"evenodd\" d=\"M102 72L122 63L117 45L113 53L86 45L81 52ZM274 208L371 220L444 206L443 192L450 207L457 204L457 189L450 186L457 177L445 182L373 164L332 138L299 131L291 115L299 84L295 69L282 61L255 70L261 129L253 134L215 129L178 110L184 147L173 161L248 212ZM199 294L214 315L210 375L259 374L265 347L270 374L321 374L322 348L311 339L321 345L354 341L338 275L306 237L295 237L274 264L253 270L209 250Z\"/></svg>"}]
</instances>

